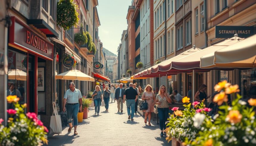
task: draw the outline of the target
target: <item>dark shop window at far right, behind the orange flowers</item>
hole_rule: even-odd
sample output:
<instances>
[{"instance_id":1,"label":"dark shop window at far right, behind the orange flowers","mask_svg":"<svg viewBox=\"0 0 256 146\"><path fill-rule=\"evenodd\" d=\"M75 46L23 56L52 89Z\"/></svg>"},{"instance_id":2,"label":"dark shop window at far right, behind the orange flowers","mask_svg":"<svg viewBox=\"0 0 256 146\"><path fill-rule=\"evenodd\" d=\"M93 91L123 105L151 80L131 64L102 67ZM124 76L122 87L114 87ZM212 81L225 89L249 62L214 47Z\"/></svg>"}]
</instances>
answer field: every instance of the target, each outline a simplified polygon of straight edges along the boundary
<instances>
[{"instance_id":1,"label":"dark shop window at far right, behind the orange flowers","mask_svg":"<svg viewBox=\"0 0 256 146\"><path fill-rule=\"evenodd\" d=\"M241 70L241 95L244 99L256 98L256 69Z\"/></svg>"}]
</instances>

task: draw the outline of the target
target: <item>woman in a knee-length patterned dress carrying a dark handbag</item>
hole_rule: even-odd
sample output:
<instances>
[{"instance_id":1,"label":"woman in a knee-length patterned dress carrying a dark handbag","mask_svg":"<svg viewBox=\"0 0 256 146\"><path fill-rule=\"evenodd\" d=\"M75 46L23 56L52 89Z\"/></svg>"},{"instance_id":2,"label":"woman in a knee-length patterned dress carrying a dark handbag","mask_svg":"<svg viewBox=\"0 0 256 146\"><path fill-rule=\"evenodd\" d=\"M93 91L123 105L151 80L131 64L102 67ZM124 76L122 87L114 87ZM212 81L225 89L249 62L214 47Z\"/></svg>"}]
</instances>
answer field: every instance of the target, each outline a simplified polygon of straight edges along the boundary
<instances>
[{"instance_id":1,"label":"woman in a knee-length patterned dress carrying a dark handbag","mask_svg":"<svg viewBox=\"0 0 256 146\"><path fill-rule=\"evenodd\" d=\"M140 86L139 86L140 87ZM153 89L150 85L147 85L145 88L145 92L142 95L142 100L146 100L148 103L148 109L145 110L145 119L144 122L145 124L147 123L147 117L149 117L149 126L151 126L150 120L151 120L151 112L154 112L154 104L156 101Z\"/></svg>"}]
</instances>

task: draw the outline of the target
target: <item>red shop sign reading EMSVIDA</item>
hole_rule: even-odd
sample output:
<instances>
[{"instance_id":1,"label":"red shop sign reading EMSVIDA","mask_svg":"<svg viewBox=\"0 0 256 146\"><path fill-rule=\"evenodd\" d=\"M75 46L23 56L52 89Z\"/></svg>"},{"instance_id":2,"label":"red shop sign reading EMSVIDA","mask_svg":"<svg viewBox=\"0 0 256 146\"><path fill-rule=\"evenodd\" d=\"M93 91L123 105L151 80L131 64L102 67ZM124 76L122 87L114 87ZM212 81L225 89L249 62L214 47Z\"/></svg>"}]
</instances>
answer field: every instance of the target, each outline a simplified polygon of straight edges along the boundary
<instances>
[{"instance_id":1,"label":"red shop sign reading EMSVIDA","mask_svg":"<svg viewBox=\"0 0 256 146\"><path fill-rule=\"evenodd\" d=\"M9 43L39 56L53 60L53 44L34 32L29 26L12 17Z\"/></svg>"}]
</instances>

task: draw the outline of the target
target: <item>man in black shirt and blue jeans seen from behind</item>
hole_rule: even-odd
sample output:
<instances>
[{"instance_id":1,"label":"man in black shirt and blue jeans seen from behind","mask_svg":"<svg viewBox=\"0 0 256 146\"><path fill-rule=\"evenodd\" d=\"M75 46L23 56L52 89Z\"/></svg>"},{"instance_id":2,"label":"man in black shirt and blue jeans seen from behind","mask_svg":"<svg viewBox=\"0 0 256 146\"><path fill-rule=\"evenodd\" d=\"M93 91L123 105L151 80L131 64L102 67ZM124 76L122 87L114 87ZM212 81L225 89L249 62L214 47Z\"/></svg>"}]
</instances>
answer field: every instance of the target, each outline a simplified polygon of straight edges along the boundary
<instances>
[{"instance_id":1,"label":"man in black shirt and blue jeans seen from behind","mask_svg":"<svg viewBox=\"0 0 256 146\"><path fill-rule=\"evenodd\" d=\"M138 99L138 92L136 89L133 89L133 84L129 84L129 88L124 91L124 99L126 98L127 114L128 119L133 121L134 111L135 111L135 102ZM123 102L125 103L125 100ZM132 110L132 114L131 114Z\"/></svg>"}]
</instances>

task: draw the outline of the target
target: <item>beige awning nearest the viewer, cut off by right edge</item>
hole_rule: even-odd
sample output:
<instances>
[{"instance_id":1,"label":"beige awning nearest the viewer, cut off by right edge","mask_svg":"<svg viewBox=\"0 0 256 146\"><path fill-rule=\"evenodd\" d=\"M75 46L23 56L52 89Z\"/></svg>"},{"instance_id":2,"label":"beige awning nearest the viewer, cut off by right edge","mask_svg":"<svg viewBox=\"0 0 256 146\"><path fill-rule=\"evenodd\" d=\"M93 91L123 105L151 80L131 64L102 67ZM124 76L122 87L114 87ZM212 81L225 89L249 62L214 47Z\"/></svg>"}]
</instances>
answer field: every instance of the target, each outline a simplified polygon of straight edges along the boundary
<instances>
[{"instance_id":1,"label":"beige awning nearest the viewer, cut off by right edge","mask_svg":"<svg viewBox=\"0 0 256 146\"><path fill-rule=\"evenodd\" d=\"M201 57L201 67L255 67L256 34Z\"/></svg>"}]
</instances>

